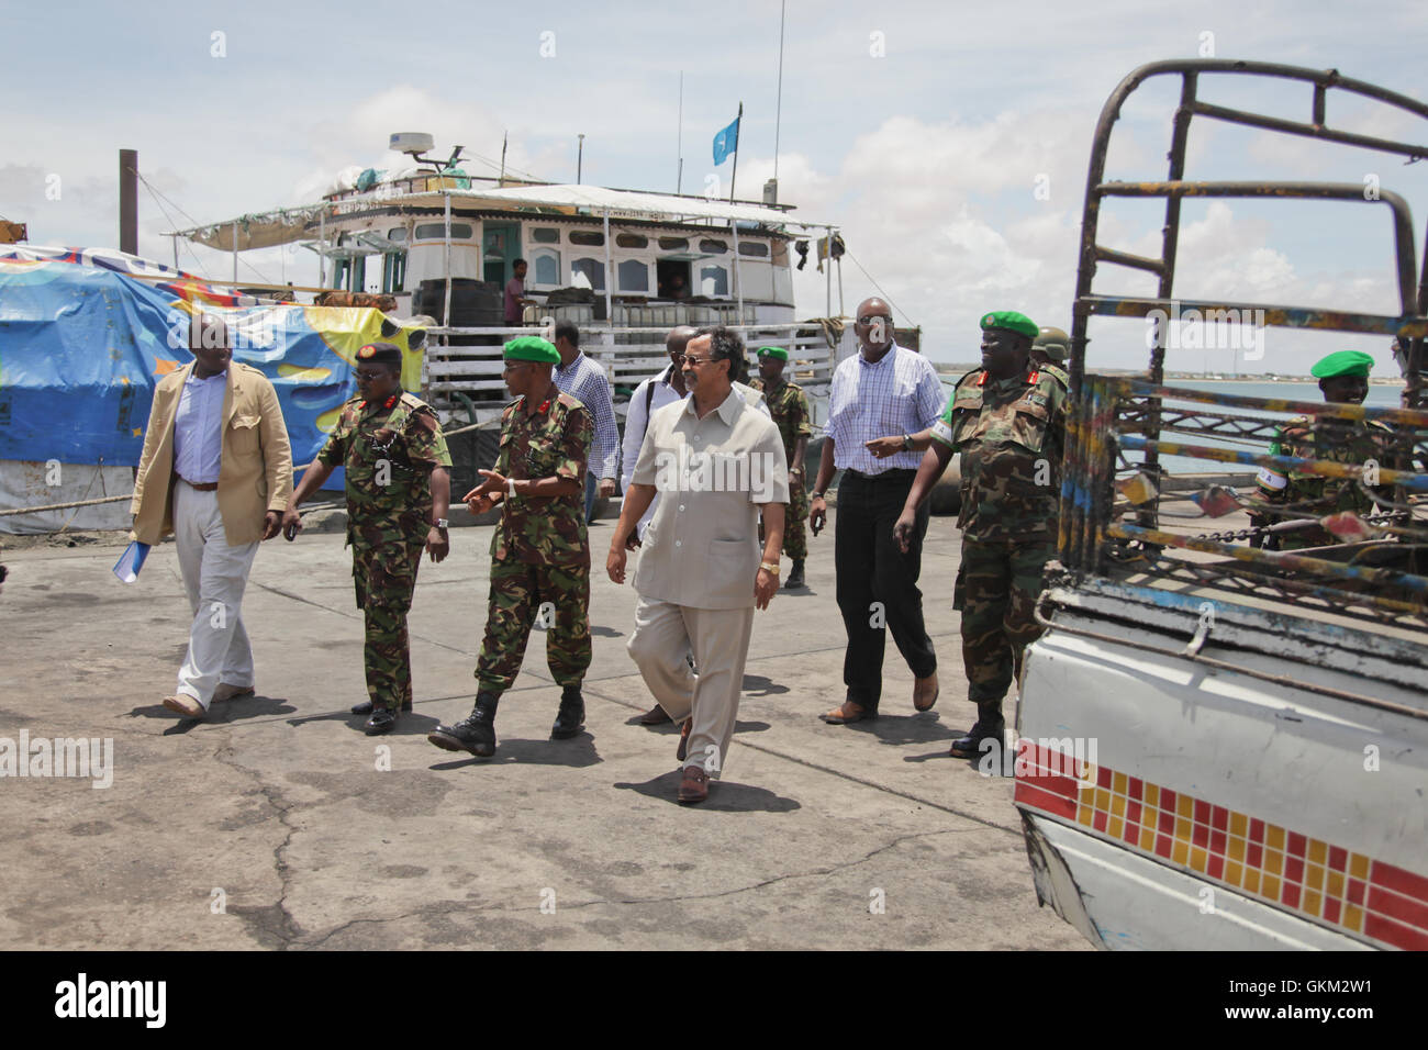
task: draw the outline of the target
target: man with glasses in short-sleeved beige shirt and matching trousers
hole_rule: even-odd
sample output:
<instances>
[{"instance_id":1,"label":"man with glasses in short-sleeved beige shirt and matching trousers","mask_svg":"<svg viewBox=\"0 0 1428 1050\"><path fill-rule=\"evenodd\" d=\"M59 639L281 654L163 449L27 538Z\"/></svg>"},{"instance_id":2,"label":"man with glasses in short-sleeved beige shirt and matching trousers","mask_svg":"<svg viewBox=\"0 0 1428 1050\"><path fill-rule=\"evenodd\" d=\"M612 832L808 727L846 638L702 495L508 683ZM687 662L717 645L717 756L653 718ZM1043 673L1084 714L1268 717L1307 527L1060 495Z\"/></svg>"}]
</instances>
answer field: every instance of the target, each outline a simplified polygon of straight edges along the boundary
<instances>
[{"instance_id":1,"label":"man with glasses in short-sleeved beige shirt and matching trousers","mask_svg":"<svg viewBox=\"0 0 1428 1050\"><path fill-rule=\"evenodd\" d=\"M733 387L747 367L735 333L705 329L683 366L691 396L650 417L605 569L624 583L625 547L640 547L628 650L658 704L684 723L678 800L700 803L734 736L754 609L778 590L788 466L778 427ZM637 540L655 493L658 509Z\"/></svg>"}]
</instances>

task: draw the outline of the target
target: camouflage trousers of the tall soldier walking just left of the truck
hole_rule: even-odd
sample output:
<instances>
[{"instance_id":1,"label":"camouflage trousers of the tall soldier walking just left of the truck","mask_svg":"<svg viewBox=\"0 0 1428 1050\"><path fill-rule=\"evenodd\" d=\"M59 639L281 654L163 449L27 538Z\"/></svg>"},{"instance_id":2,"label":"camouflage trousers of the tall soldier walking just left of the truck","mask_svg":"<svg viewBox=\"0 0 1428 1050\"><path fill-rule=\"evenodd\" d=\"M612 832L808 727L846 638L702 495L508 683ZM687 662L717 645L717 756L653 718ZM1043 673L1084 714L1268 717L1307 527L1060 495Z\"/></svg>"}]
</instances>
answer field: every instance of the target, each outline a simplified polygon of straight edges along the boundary
<instances>
[{"instance_id":1,"label":"camouflage trousers of the tall soldier walking just left of the truck","mask_svg":"<svg viewBox=\"0 0 1428 1050\"><path fill-rule=\"evenodd\" d=\"M1054 540L982 541L962 537L952 609L962 613L968 700L1001 700L1021 674L1022 650L1041 634L1032 611Z\"/></svg>"}]
</instances>

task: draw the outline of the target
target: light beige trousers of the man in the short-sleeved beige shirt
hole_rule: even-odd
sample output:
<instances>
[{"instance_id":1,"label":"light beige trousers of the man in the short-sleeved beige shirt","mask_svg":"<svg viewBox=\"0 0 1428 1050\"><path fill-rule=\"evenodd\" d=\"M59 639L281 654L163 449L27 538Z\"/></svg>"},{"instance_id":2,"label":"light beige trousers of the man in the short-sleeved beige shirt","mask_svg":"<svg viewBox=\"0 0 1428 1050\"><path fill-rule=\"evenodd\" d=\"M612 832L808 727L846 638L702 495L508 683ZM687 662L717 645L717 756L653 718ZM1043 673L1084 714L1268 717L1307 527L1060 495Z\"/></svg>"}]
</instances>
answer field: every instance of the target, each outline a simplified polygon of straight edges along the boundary
<instances>
[{"instance_id":1,"label":"light beige trousers of the man in the short-sleeved beige shirt","mask_svg":"<svg viewBox=\"0 0 1428 1050\"><path fill-rule=\"evenodd\" d=\"M675 723L694 719L684 764L703 766L714 780L738 720L753 630L753 606L693 609L641 597L634 610L630 656L665 714ZM698 673L685 660L691 651Z\"/></svg>"}]
</instances>

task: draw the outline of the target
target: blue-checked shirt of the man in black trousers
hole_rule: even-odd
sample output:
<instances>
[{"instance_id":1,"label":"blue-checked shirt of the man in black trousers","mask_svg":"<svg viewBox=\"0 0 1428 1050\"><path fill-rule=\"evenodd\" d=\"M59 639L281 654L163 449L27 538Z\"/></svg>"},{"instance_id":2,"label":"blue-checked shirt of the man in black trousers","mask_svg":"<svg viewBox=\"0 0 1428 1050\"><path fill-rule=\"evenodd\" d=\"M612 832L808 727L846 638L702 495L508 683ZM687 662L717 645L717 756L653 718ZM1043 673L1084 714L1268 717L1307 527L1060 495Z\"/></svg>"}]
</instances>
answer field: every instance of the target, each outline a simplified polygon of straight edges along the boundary
<instances>
[{"instance_id":1,"label":"blue-checked shirt of the man in black trousers","mask_svg":"<svg viewBox=\"0 0 1428 1050\"><path fill-rule=\"evenodd\" d=\"M858 350L838 364L828 393L825 433L833 440L834 466L860 474L917 470L922 453L900 451L880 460L864 443L927 430L945 407L947 391L937 369L921 354L894 344L877 364L870 364Z\"/></svg>"}]
</instances>

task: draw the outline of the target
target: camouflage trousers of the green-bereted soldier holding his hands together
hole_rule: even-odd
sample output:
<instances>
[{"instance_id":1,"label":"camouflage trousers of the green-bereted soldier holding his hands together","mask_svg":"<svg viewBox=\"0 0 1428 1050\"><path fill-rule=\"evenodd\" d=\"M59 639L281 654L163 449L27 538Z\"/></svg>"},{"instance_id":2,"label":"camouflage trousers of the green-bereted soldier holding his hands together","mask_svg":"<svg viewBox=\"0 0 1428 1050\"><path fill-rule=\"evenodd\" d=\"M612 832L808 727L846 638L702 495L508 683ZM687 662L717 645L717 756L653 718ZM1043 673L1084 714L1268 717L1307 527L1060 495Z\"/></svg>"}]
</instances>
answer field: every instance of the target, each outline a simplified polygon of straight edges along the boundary
<instances>
[{"instance_id":1,"label":"camouflage trousers of the green-bereted soldier holding his hands together","mask_svg":"<svg viewBox=\"0 0 1428 1050\"><path fill-rule=\"evenodd\" d=\"M486 639L476 664L483 690L511 687L537 626L545 630L545 663L555 684L578 686L590 669L590 566L491 563Z\"/></svg>"}]
</instances>

